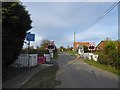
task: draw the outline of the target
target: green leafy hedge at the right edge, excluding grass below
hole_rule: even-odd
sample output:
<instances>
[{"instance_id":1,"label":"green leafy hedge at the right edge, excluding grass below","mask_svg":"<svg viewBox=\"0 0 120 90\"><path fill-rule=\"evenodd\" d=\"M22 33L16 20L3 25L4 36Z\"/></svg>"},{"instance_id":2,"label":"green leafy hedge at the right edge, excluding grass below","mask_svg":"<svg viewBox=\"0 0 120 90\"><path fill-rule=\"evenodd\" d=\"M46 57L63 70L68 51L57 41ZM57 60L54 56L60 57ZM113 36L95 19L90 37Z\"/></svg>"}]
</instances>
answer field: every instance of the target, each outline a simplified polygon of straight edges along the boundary
<instances>
[{"instance_id":1,"label":"green leafy hedge at the right edge, excluding grass below","mask_svg":"<svg viewBox=\"0 0 120 90\"><path fill-rule=\"evenodd\" d=\"M98 62L116 69L120 68L120 50L118 44L119 42L108 41L103 50L96 51L95 53L99 55Z\"/></svg>"}]
</instances>

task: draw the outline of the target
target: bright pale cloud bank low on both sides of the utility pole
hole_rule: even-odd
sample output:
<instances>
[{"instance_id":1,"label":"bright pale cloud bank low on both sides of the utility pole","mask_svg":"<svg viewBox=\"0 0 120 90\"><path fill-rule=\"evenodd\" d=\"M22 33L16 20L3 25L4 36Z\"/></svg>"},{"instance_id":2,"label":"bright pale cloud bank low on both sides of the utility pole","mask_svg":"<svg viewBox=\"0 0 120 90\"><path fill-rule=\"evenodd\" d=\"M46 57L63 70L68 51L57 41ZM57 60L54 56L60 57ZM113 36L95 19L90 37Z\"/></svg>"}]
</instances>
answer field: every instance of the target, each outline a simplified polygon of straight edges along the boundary
<instances>
[{"instance_id":1,"label":"bright pale cloud bank low on both sides of the utility pole","mask_svg":"<svg viewBox=\"0 0 120 90\"><path fill-rule=\"evenodd\" d=\"M77 42L96 42L96 45L105 38L111 38L112 40L118 39L118 25L116 27L113 25L105 26L103 24L98 24L82 32L76 32ZM63 36L64 43L73 43L74 34L70 33Z\"/></svg>"}]
</instances>

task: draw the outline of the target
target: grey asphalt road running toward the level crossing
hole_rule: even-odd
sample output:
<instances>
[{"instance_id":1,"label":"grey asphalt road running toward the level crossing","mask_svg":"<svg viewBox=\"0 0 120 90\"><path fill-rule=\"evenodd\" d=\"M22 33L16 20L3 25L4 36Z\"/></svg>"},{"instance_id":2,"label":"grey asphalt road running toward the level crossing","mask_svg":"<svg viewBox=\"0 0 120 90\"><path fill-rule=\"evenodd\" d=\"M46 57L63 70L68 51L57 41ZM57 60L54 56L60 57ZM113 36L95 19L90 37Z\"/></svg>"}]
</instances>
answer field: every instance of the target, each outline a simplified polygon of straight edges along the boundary
<instances>
[{"instance_id":1,"label":"grey asphalt road running toward the level crossing","mask_svg":"<svg viewBox=\"0 0 120 90\"><path fill-rule=\"evenodd\" d=\"M118 88L118 76L86 64L84 61L59 53L56 88Z\"/></svg>"}]
</instances>

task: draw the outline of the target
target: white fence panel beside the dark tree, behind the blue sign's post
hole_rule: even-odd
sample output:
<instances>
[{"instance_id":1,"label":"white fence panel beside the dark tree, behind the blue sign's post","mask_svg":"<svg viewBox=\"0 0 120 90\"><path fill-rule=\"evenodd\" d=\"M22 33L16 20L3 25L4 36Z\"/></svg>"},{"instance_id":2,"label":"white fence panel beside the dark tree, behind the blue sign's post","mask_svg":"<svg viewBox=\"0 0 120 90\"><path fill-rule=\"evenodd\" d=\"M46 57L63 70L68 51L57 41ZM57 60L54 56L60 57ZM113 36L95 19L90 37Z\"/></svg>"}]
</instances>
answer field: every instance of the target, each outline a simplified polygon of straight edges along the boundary
<instances>
[{"instance_id":1,"label":"white fence panel beside the dark tree, behind the blue sign's post","mask_svg":"<svg viewBox=\"0 0 120 90\"><path fill-rule=\"evenodd\" d=\"M37 54L20 54L18 59L13 63L15 67L34 67L37 66Z\"/></svg>"}]
</instances>

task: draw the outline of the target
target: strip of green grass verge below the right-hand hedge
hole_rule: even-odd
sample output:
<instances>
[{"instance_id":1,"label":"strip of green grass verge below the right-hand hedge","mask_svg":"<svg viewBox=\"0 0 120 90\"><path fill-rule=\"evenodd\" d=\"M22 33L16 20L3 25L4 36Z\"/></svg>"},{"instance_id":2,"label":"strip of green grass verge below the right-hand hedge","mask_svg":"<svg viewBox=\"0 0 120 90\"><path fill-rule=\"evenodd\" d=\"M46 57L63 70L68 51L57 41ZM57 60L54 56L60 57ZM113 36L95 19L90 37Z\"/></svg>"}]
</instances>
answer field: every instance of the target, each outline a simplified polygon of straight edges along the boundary
<instances>
[{"instance_id":1,"label":"strip of green grass verge below the right-hand hedge","mask_svg":"<svg viewBox=\"0 0 120 90\"><path fill-rule=\"evenodd\" d=\"M116 69L116 68L114 68L114 67L107 66L107 65L103 65L103 64L100 64L99 62L95 62L95 61L92 61L92 60L83 60L83 61L85 61L85 62L88 63L89 65L92 65L92 66L101 68L101 69L103 69L103 70L112 72L112 73L120 76L119 70Z\"/></svg>"}]
</instances>

